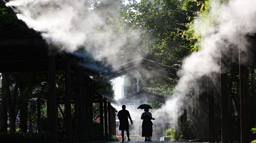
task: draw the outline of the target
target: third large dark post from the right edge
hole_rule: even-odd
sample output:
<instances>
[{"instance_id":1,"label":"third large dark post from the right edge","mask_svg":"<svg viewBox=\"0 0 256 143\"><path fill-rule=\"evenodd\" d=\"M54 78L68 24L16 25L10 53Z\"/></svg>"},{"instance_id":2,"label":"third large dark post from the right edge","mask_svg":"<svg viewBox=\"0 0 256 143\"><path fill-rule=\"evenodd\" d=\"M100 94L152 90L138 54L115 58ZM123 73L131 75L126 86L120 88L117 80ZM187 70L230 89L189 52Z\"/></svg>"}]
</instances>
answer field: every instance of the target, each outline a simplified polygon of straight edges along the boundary
<instances>
[{"instance_id":1,"label":"third large dark post from the right edge","mask_svg":"<svg viewBox=\"0 0 256 143\"><path fill-rule=\"evenodd\" d=\"M213 82L208 74L208 122L209 122L209 143L214 143L214 98L213 98Z\"/></svg>"}]
</instances>

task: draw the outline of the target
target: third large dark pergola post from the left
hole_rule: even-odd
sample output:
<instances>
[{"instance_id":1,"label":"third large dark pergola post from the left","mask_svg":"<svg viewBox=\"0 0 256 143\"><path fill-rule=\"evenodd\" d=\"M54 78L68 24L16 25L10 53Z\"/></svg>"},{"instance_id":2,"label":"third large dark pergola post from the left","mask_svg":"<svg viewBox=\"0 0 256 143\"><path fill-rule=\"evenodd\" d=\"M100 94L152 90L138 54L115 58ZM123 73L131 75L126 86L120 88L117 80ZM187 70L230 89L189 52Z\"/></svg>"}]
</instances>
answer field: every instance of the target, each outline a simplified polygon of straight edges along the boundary
<instances>
[{"instance_id":1,"label":"third large dark pergola post from the left","mask_svg":"<svg viewBox=\"0 0 256 143\"><path fill-rule=\"evenodd\" d=\"M77 82L78 82L78 88L77 88L77 100L78 100L78 141L83 142L83 77L82 72L77 72Z\"/></svg>"}]
</instances>

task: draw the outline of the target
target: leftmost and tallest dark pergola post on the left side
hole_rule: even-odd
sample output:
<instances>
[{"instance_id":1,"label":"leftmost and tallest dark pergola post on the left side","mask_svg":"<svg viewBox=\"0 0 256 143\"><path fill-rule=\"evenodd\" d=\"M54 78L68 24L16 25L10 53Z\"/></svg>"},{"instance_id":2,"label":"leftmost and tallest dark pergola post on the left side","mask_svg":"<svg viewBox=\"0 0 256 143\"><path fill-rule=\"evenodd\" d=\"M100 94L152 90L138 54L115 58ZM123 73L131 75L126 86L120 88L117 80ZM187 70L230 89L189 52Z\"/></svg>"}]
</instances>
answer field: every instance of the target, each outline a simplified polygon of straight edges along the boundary
<instances>
[{"instance_id":1,"label":"leftmost and tallest dark pergola post on the left side","mask_svg":"<svg viewBox=\"0 0 256 143\"><path fill-rule=\"evenodd\" d=\"M49 120L50 120L50 142L57 143L57 105L55 84L55 52L50 51L48 56L49 76Z\"/></svg>"}]
</instances>

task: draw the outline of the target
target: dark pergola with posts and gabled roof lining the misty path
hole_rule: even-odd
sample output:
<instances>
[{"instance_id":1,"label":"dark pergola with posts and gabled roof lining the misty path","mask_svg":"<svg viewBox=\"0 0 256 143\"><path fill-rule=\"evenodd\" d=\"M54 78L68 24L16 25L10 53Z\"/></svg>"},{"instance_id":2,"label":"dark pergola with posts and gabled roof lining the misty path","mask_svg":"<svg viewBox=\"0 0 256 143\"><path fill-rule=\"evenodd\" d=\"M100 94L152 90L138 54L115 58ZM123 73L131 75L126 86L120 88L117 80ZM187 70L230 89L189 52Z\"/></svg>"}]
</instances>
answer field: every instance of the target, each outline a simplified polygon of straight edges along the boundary
<instances>
[{"instance_id":1,"label":"dark pergola with posts and gabled roof lining the misty path","mask_svg":"<svg viewBox=\"0 0 256 143\"><path fill-rule=\"evenodd\" d=\"M5 1L0 0L0 4L5 6ZM13 14L17 14L17 11L12 7L7 7ZM255 40L255 39L254 39ZM49 116L50 116L50 139L52 143L57 142L57 100L56 100L56 89L55 89L55 72L58 70L65 71L65 104L71 105L71 70L77 72L78 79L78 125L79 141L83 140L83 116L92 119L92 104L100 103L100 121L103 124L103 105L104 114L108 113L104 117L105 120L105 134L108 134L108 140L111 141L112 134L115 134L114 127L114 113L116 109L111 106L111 100L103 97L96 91L96 85L102 84L106 81L112 80L116 77L126 75L138 71L142 68L149 70L152 73L169 77L175 80L179 78L176 76L175 63L167 62L162 64L163 59L145 54L138 53L129 57L123 58L124 63L120 63L117 67L116 72L112 72L111 75L103 75L101 80L93 81L82 67L78 66L75 61L76 57L64 53L56 52L54 49L48 51L42 38L32 40L24 39L8 39L0 43L0 73L3 72L29 72L29 71L48 71L49 73ZM239 51L239 69L240 69L240 106L241 106L241 142L250 142L250 129L249 129L249 85L248 85L248 64L240 64L240 61L248 61L247 53ZM226 71L228 63L226 57L220 57L220 70ZM227 73L221 72L221 129L222 129L222 143L229 142L229 128L228 128L228 92L227 92ZM208 103L208 119L209 119L209 142L215 142L214 140L214 106L213 106L213 83L208 80L207 77L202 79L206 86L198 86L198 96L192 99L193 112L192 115L198 114L203 115L207 113ZM201 88L206 88L201 89ZM207 92L199 92L207 91ZM85 94L86 93L86 94ZM153 100L159 100L165 103L165 99L157 95L151 94L146 91L141 91L131 95L125 99L120 100L120 103L127 101L137 100L136 98L152 98ZM208 98L206 98L208 97ZM206 100L208 99L208 101ZM40 100L39 100L40 101ZM177 125L186 121L187 107L186 100L181 100L182 108L178 107L178 112L182 112L181 116L177 116ZM40 104L39 104L40 105ZM107 110L108 109L108 110ZM40 108L37 109L40 111ZM202 114L201 114L202 113ZM183 116L185 115L185 116ZM39 117L40 118L40 115ZM107 128L109 127L109 128ZM107 130L109 129L109 130ZM66 135L67 142L72 142L72 127L71 127L71 106L66 106ZM178 139L178 132L176 132L176 139Z\"/></svg>"}]
</instances>

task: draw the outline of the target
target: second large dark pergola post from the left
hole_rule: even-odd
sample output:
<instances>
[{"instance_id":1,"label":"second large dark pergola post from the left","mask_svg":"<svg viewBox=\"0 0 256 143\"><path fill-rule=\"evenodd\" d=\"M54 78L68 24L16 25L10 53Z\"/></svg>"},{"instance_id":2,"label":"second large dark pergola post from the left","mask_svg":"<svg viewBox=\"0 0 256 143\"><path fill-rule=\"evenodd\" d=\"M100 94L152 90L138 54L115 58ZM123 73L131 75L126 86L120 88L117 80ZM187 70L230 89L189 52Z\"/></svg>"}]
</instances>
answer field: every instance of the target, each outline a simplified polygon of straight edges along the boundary
<instances>
[{"instance_id":1,"label":"second large dark pergola post from the left","mask_svg":"<svg viewBox=\"0 0 256 143\"><path fill-rule=\"evenodd\" d=\"M65 67L65 114L67 143L72 143L72 119L71 119L71 69L70 61L66 60Z\"/></svg>"}]
</instances>

